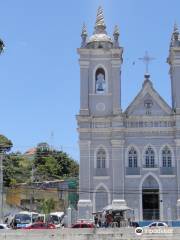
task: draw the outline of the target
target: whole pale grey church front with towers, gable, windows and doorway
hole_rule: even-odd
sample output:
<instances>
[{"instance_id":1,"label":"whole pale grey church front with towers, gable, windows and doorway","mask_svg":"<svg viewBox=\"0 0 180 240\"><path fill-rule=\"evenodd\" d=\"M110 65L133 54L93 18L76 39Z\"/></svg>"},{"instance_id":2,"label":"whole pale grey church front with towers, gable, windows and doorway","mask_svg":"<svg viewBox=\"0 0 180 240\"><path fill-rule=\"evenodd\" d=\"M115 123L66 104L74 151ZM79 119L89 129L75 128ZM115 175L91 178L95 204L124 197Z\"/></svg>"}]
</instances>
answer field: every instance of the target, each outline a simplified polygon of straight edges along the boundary
<instances>
[{"instance_id":1,"label":"whole pale grey church front with towers, gable, windows and doorway","mask_svg":"<svg viewBox=\"0 0 180 240\"><path fill-rule=\"evenodd\" d=\"M97 212L113 201L136 220L178 219L180 206L180 35L169 48L172 106L154 89L148 72L142 89L121 108L123 48L116 26L106 32L99 7L94 33L82 29L80 56L79 212ZM147 56L146 56L147 57ZM147 58L148 60L148 58ZM83 215L84 214L84 215Z\"/></svg>"}]
</instances>

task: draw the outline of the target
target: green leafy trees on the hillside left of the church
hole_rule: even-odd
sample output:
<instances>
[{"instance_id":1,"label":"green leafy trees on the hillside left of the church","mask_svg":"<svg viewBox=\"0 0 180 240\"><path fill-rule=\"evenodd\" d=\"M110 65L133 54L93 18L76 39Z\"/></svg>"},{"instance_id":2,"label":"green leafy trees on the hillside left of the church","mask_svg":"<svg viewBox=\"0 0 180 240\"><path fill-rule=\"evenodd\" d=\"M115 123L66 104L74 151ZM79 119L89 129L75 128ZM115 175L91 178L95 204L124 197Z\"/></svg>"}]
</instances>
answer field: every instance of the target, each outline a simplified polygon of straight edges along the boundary
<instances>
[{"instance_id":1,"label":"green leafy trees on the hillside left of the church","mask_svg":"<svg viewBox=\"0 0 180 240\"><path fill-rule=\"evenodd\" d=\"M8 140L9 141L9 140ZM11 142L0 141L3 151L10 150ZM6 147L5 147L6 146ZM7 154L3 160L4 185L33 181L50 181L78 176L79 166L63 151L51 150L47 143L38 144L34 159L17 153Z\"/></svg>"}]
</instances>

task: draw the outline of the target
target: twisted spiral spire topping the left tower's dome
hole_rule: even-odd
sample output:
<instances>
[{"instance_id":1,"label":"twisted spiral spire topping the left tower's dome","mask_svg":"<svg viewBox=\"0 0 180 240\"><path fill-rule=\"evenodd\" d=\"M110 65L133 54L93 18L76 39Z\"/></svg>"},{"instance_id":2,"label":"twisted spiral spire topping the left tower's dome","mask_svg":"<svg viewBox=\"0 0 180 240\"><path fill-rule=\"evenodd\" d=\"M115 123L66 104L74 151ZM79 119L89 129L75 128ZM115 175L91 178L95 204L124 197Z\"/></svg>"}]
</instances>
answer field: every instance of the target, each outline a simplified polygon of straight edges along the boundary
<instances>
[{"instance_id":1,"label":"twisted spiral spire topping the left tower's dome","mask_svg":"<svg viewBox=\"0 0 180 240\"><path fill-rule=\"evenodd\" d=\"M104 13L101 6L98 7L95 23L95 34L106 33L106 25L104 22Z\"/></svg>"}]
</instances>

